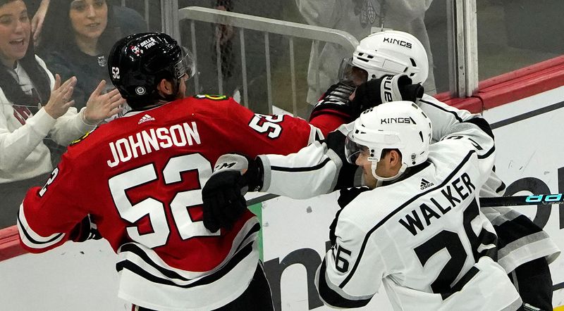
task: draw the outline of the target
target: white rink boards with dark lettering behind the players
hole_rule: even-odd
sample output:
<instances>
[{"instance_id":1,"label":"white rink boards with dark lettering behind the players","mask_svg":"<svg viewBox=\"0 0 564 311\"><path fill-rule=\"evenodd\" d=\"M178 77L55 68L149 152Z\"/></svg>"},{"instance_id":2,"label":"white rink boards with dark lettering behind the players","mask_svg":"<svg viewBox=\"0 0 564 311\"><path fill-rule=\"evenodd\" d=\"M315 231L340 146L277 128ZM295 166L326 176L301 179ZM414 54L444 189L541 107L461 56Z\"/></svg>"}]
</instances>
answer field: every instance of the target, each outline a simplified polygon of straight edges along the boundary
<instances>
[{"instance_id":1,"label":"white rink boards with dark lettering behind the players","mask_svg":"<svg viewBox=\"0 0 564 311\"><path fill-rule=\"evenodd\" d=\"M523 190L516 194L547 188L551 193L563 193L564 87L535 92L538 94L505 104L484 104L488 108L484 117L496 135L497 172L511 189ZM468 101L474 103L475 99ZM336 209L335 193L310 200L274 198L262 203L262 255L281 310L329 310L317 297L313 277L328 247L328 227ZM564 249L564 204L518 209L544 227ZM3 310L130 310L116 297L116 255L105 241L67 243L41 255L18 255L17 243L14 245L9 236L3 239L6 229L1 232ZM564 255L550 267L553 305L564 305L564 290L560 289L564 288ZM391 307L382 290L361 310Z\"/></svg>"}]
</instances>

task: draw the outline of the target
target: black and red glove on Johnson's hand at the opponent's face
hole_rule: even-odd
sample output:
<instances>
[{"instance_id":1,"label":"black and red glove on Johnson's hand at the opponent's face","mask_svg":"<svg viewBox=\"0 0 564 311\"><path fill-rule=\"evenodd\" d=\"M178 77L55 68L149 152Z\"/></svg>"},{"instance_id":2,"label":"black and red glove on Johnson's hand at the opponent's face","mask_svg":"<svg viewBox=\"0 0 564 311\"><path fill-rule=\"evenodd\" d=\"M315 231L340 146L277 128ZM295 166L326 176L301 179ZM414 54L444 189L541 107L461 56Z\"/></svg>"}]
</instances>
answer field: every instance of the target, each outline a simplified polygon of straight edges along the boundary
<instances>
[{"instance_id":1,"label":"black and red glove on Johnson's hand at the opponent's face","mask_svg":"<svg viewBox=\"0 0 564 311\"><path fill-rule=\"evenodd\" d=\"M321 99L317 101L317 104L315 104L311 115L309 115L309 120L324 113L344 115L350 121L355 120L357 117L350 107L348 99L353 94L353 91L355 91L355 87L351 87L343 82L331 85L325 94L321 96Z\"/></svg>"}]
</instances>

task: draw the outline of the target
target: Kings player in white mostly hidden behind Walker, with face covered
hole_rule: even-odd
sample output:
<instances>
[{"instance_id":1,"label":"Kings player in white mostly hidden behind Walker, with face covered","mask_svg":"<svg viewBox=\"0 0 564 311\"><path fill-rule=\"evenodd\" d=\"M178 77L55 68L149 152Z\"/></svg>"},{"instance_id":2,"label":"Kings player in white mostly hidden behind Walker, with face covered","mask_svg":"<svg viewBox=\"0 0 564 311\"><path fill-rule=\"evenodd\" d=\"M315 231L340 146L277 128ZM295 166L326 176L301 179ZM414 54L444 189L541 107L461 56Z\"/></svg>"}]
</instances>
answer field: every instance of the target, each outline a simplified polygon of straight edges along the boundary
<instances>
[{"instance_id":1,"label":"Kings player in white mostly hidden behind Walker, with face covered","mask_svg":"<svg viewBox=\"0 0 564 311\"><path fill-rule=\"evenodd\" d=\"M429 72L427 63L427 54L417 38L406 32L388 30L360 41L353 57L341 63L339 80L360 84L367 79L403 72L412 83L423 84ZM477 118L467 110L453 108L427 94L417 104L434 120L435 140L443 137L455 123ZM503 196L504 191L505 184L492 172L479 194ZM482 208L482 212L494 224L499 236L498 263L510 274L522 299L535 307L551 310L552 280L548 264L558 257L558 246L545 231L513 208Z\"/></svg>"}]
</instances>

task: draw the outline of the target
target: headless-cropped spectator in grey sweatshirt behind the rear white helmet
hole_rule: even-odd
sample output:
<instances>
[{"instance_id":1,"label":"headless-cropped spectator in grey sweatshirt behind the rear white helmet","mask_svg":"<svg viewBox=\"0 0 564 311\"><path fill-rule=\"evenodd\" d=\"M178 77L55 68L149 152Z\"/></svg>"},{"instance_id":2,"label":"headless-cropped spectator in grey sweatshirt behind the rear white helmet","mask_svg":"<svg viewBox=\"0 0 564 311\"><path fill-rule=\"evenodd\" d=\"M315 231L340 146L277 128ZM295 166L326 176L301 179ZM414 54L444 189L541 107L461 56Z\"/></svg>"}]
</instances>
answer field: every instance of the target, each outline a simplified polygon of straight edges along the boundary
<instances>
[{"instance_id":1,"label":"headless-cropped spectator in grey sweatshirt behind the rear white helmet","mask_svg":"<svg viewBox=\"0 0 564 311\"><path fill-rule=\"evenodd\" d=\"M424 25L425 11L432 0L295 0L300 13L310 25L329 27L353 34L358 40L371 32L385 29L400 30L413 34L425 47L429 56L429 77L424 84L427 94L435 94L433 75L433 57L429 36ZM329 85L337 81L338 64L343 58L350 57L352 51L346 51L336 44L325 44L319 54L319 89L316 88L316 61L312 49L309 58L307 82L307 102L315 103Z\"/></svg>"}]
</instances>

